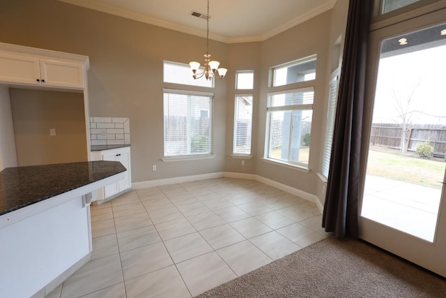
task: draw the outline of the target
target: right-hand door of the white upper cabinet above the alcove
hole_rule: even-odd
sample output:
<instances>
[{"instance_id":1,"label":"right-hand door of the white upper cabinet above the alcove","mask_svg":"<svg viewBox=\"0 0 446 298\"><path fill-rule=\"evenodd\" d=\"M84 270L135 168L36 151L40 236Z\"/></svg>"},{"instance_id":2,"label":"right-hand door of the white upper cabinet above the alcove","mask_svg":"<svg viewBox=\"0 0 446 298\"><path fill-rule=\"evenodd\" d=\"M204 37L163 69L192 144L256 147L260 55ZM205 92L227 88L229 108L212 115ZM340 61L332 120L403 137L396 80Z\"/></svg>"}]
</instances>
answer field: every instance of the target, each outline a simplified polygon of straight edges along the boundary
<instances>
[{"instance_id":1,"label":"right-hand door of the white upper cabinet above the alcove","mask_svg":"<svg viewBox=\"0 0 446 298\"><path fill-rule=\"evenodd\" d=\"M40 59L43 84L54 87L84 88L84 66L69 61Z\"/></svg>"}]
</instances>

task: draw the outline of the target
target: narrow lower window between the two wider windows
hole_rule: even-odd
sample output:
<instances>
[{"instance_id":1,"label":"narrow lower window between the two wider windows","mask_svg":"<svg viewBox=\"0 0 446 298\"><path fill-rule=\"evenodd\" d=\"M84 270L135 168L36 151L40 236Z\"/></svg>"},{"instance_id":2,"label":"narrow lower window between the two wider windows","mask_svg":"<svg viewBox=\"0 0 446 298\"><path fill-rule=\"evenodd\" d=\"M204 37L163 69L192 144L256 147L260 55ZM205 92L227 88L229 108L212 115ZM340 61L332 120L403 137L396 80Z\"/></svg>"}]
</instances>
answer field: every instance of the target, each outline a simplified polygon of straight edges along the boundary
<instances>
[{"instance_id":1,"label":"narrow lower window between the two wider windows","mask_svg":"<svg viewBox=\"0 0 446 298\"><path fill-rule=\"evenodd\" d=\"M233 154L251 154L252 95L236 96Z\"/></svg>"}]
</instances>

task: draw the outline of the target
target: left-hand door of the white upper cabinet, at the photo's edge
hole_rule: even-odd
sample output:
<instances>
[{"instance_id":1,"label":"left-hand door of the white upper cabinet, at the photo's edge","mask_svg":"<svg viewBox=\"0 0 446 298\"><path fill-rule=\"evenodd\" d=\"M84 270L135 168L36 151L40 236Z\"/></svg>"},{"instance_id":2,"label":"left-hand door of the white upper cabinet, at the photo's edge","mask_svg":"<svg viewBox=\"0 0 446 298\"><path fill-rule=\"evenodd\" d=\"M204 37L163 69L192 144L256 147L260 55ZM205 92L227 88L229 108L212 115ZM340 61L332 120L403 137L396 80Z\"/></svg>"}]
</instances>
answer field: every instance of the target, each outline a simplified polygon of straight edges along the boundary
<instances>
[{"instance_id":1,"label":"left-hand door of the white upper cabinet, at the photo's edge","mask_svg":"<svg viewBox=\"0 0 446 298\"><path fill-rule=\"evenodd\" d=\"M0 81L40 84L39 58L31 55L0 51Z\"/></svg>"}]
</instances>

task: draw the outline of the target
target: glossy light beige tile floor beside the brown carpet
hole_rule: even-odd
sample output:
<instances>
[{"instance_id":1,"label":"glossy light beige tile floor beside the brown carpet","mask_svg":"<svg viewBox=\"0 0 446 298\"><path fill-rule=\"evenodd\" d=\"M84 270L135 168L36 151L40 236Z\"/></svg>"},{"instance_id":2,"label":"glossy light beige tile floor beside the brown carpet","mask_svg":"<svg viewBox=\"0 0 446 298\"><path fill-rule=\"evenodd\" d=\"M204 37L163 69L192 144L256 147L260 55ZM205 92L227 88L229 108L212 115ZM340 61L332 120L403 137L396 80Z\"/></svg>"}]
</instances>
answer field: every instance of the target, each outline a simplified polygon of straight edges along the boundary
<instances>
[{"instance_id":1,"label":"glossy light beige tile floor beside the brown carpet","mask_svg":"<svg viewBox=\"0 0 446 298\"><path fill-rule=\"evenodd\" d=\"M329 236L313 202L228 178L132 190L91 226L91 261L47 297L194 297Z\"/></svg>"}]
</instances>

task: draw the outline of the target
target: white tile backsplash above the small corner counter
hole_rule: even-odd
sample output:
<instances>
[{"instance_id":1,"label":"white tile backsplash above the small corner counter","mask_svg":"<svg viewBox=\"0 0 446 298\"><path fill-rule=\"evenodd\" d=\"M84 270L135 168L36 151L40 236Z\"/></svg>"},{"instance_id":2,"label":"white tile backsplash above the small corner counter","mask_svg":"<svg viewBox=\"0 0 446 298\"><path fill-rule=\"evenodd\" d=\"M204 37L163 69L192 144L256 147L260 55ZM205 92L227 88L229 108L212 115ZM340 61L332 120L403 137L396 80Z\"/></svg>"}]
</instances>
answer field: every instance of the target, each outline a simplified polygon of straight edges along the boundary
<instances>
[{"instance_id":1,"label":"white tile backsplash above the small corner counter","mask_svg":"<svg viewBox=\"0 0 446 298\"><path fill-rule=\"evenodd\" d=\"M130 145L130 119L90 117L91 145Z\"/></svg>"}]
</instances>

